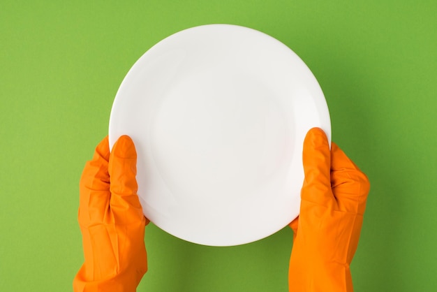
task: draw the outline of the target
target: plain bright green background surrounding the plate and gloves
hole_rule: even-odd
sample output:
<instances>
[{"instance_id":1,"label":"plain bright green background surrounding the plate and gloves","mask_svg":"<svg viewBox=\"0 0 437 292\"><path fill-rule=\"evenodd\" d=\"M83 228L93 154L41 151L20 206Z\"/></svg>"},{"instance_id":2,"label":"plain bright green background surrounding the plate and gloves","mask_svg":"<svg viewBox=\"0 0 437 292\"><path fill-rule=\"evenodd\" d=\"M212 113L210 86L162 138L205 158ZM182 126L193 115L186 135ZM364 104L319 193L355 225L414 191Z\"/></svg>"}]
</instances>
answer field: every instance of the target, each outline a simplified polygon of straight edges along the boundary
<instances>
[{"instance_id":1,"label":"plain bright green background surrounding the plate and gloves","mask_svg":"<svg viewBox=\"0 0 437 292\"><path fill-rule=\"evenodd\" d=\"M355 291L437 291L436 15L433 0L0 1L0 291L71 291L78 182L121 80L210 23L278 38L318 78L333 140L371 180ZM150 224L146 244L138 291L287 291L288 228L218 248Z\"/></svg>"}]
</instances>

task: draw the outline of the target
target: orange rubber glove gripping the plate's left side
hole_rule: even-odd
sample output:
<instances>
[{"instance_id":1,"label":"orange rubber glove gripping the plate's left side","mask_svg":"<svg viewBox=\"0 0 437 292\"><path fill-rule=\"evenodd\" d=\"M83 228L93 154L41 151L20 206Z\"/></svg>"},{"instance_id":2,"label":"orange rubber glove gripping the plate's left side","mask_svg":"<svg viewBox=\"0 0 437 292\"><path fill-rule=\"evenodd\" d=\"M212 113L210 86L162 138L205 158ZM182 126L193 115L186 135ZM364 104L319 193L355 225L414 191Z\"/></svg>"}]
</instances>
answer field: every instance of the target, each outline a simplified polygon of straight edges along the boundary
<instances>
[{"instance_id":1,"label":"orange rubber glove gripping the plate's left side","mask_svg":"<svg viewBox=\"0 0 437 292\"><path fill-rule=\"evenodd\" d=\"M79 225L84 264L74 291L135 291L147 272L147 219L137 196L137 154L122 136L110 153L108 137L96 147L80 180Z\"/></svg>"}]
</instances>

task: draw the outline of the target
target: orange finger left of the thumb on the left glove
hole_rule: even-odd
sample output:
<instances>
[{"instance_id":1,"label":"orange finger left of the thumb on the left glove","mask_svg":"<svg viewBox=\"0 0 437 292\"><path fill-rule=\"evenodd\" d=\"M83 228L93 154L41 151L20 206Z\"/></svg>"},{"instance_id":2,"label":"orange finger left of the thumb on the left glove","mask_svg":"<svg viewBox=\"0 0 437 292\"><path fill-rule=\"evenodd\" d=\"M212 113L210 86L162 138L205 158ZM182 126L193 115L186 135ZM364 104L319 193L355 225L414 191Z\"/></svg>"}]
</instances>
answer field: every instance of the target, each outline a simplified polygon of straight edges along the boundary
<instances>
[{"instance_id":1,"label":"orange finger left of the thumb on the left glove","mask_svg":"<svg viewBox=\"0 0 437 292\"><path fill-rule=\"evenodd\" d=\"M82 226L102 223L110 201L110 156L108 136L99 143L91 161L85 164L80 178L79 223Z\"/></svg>"}]
</instances>

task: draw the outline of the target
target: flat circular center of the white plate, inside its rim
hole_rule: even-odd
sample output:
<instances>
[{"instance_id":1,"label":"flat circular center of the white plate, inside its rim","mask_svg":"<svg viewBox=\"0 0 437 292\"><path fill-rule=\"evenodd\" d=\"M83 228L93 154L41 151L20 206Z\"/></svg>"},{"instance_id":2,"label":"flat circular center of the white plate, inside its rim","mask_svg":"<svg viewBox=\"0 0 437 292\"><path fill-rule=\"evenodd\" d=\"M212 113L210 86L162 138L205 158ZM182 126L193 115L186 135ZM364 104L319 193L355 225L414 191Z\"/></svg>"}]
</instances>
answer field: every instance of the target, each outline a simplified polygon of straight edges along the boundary
<instances>
[{"instance_id":1,"label":"flat circular center of the white plate, inside its rim","mask_svg":"<svg viewBox=\"0 0 437 292\"><path fill-rule=\"evenodd\" d=\"M183 76L151 126L153 159L168 188L181 200L208 204L235 192L238 200L260 196L260 186L287 163L290 130L274 92L229 71Z\"/></svg>"}]
</instances>

